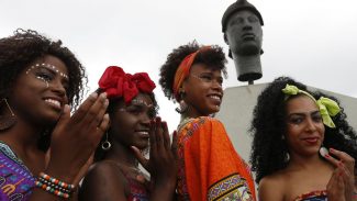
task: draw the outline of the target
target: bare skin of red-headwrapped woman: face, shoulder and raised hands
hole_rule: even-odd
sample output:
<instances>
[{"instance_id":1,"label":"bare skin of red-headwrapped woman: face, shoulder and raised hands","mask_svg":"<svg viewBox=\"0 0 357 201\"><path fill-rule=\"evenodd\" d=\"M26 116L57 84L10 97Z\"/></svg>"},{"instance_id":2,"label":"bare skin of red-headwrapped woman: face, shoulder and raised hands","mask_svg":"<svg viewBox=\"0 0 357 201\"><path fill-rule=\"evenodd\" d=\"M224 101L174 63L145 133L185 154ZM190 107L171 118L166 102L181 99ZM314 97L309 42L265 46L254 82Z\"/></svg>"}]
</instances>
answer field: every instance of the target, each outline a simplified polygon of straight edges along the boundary
<instances>
[{"instance_id":1,"label":"bare skin of red-headwrapped woman: face, shoulder and raised hands","mask_svg":"<svg viewBox=\"0 0 357 201\"><path fill-rule=\"evenodd\" d=\"M125 107L121 101L110 114L112 123L109 136L112 148L86 176L80 190L80 200L126 201L130 187L123 171L135 178L137 176L135 169L138 169L137 160L150 172L149 182L140 180L143 185L152 187L149 199L174 200L177 175L174 154L176 147L171 146L166 122L161 122L159 118L152 120L149 113L153 110L153 101L149 96L140 93L135 99L145 103L141 105L132 101ZM138 131L147 131L148 134ZM148 141L149 160L140 152L147 148Z\"/></svg>"}]
</instances>

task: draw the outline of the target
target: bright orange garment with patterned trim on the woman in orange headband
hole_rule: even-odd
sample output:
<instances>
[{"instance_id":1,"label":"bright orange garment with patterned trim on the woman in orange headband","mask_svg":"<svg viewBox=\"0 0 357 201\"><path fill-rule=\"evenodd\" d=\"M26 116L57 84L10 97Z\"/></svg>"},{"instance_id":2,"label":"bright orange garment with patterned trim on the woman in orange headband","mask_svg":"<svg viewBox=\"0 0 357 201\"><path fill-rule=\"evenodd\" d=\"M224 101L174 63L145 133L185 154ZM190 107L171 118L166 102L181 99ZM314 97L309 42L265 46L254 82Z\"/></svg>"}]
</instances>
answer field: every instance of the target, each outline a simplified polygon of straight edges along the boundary
<instances>
[{"instance_id":1,"label":"bright orange garment with patterned trim on the woman in orange headband","mask_svg":"<svg viewBox=\"0 0 357 201\"><path fill-rule=\"evenodd\" d=\"M179 200L255 200L249 167L235 152L220 121L207 116L182 121L178 157Z\"/></svg>"}]
</instances>

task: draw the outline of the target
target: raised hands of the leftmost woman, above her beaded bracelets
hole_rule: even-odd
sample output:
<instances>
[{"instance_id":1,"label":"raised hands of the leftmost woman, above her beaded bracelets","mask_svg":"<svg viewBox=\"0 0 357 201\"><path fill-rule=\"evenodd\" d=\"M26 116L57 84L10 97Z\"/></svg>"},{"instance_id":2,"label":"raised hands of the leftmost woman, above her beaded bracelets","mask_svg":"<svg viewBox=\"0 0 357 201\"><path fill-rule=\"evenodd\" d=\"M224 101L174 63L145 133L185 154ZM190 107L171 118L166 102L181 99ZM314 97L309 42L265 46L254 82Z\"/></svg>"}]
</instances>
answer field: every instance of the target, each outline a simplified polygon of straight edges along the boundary
<instances>
[{"instance_id":1,"label":"raised hands of the leftmost woman, above her beaded bracelets","mask_svg":"<svg viewBox=\"0 0 357 201\"><path fill-rule=\"evenodd\" d=\"M48 175L70 183L75 181L109 125L108 104L105 93L94 92L72 116L65 105L52 135Z\"/></svg>"}]
</instances>

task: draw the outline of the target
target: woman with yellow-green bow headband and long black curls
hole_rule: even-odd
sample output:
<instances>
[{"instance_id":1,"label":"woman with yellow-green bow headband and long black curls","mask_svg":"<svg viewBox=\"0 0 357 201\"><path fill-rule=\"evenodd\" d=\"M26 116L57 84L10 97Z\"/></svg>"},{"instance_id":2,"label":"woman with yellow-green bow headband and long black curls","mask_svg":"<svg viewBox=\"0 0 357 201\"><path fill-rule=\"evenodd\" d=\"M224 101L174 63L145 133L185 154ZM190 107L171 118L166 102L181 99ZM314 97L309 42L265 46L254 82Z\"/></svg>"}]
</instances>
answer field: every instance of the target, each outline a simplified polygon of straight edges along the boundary
<instances>
[{"instance_id":1,"label":"woman with yellow-green bow headband and long black curls","mask_svg":"<svg viewBox=\"0 0 357 201\"><path fill-rule=\"evenodd\" d=\"M258 97L252 131L261 201L353 200L357 136L334 98L277 78Z\"/></svg>"}]
</instances>

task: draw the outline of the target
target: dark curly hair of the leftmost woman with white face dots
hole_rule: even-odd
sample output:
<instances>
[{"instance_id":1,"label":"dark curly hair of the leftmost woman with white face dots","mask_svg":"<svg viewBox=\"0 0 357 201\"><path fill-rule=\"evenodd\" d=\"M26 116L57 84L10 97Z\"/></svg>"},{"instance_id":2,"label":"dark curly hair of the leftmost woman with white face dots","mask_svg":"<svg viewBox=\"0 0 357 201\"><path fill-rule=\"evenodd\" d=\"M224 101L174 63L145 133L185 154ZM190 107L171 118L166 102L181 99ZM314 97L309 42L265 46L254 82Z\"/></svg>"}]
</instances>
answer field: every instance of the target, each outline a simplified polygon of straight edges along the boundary
<instances>
[{"instance_id":1,"label":"dark curly hair of the leftmost woman with white face dots","mask_svg":"<svg viewBox=\"0 0 357 201\"><path fill-rule=\"evenodd\" d=\"M87 83L85 68L76 56L62 45L62 41L52 41L32 30L18 29L12 36L0 40L0 98L7 98L12 92L18 76L32 62L46 55L59 58L68 68L67 97L69 105L76 109Z\"/></svg>"}]
</instances>

